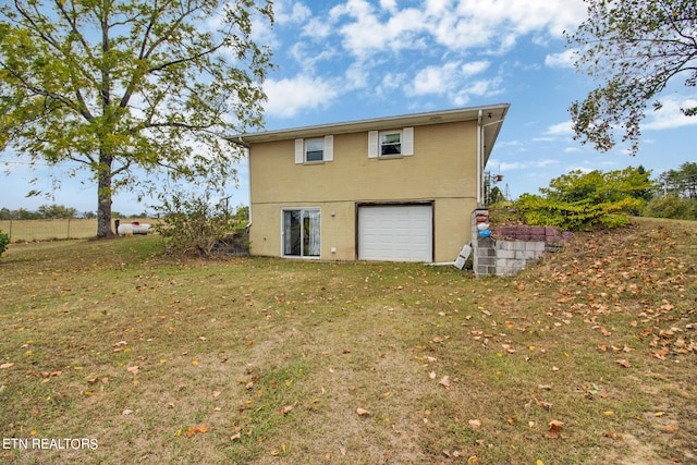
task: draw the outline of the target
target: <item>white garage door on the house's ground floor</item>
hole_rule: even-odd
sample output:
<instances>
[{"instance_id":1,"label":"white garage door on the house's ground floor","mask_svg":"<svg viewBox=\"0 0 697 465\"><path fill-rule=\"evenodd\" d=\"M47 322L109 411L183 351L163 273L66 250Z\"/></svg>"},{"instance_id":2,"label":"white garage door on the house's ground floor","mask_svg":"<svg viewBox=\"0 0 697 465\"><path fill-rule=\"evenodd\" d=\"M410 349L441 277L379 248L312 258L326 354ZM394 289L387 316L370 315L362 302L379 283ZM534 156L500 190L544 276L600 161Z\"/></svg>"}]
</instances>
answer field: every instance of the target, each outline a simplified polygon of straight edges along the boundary
<instances>
[{"instance_id":1,"label":"white garage door on the house's ground floor","mask_svg":"<svg viewBox=\"0 0 697 465\"><path fill-rule=\"evenodd\" d=\"M358 259L432 261L432 206L390 205L359 207Z\"/></svg>"}]
</instances>

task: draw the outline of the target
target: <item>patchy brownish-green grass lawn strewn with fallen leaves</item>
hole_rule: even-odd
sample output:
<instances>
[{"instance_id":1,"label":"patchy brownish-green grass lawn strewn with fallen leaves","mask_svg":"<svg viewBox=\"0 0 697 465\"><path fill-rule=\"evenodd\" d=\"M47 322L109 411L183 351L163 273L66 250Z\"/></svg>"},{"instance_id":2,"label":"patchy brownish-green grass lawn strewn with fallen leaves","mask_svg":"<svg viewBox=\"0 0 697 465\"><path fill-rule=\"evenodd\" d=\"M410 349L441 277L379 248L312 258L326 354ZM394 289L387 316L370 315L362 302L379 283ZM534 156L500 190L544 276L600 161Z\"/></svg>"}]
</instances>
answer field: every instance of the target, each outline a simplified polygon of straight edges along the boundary
<instances>
[{"instance_id":1,"label":"patchy brownish-green grass lawn strewn with fallen leaves","mask_svg":"<svg viewBox=\"0 0 697 465\"><path fill-rule=\"evenodd\" d=\"M0 258L5 463L697 463L695 222L479 280L160 250Z\"/></svg>"}]
</instances>

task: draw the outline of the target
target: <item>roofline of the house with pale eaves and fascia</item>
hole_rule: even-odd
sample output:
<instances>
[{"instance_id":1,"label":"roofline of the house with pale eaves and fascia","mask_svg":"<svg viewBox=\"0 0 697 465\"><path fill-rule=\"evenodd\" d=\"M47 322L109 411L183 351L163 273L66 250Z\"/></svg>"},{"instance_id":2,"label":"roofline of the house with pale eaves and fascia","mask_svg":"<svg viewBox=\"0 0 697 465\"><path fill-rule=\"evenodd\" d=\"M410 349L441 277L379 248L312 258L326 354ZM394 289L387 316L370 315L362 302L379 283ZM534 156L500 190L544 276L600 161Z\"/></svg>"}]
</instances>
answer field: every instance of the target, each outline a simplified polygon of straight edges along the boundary
<instances>
[{"instance_id":1,"label":"roofline of the house with pale eaves and fascia","mask_svg":"<svg viewBox=\"0 0 697 465\"><path fill-rule=\"evenodd\" d=\"M496 140L496 136L498 136L500 126L501 124L503 124L503 120L510 106L510 103L497 103L481 107L456 108L451 110L403 114L398 117L374 118L343 123L318 124L314 126L241 134L231 136L229 137L229 139L231 142L248 146L249 144L314 137L327 134L347 134L362 131L388 130L400 126L424 126L428 124L476 121L480 114L485 114L488 119L491 119L494 122L499 122L499 124L497 125L498 127L493 132L493 140Z\"/></svg>"}]
</instances>

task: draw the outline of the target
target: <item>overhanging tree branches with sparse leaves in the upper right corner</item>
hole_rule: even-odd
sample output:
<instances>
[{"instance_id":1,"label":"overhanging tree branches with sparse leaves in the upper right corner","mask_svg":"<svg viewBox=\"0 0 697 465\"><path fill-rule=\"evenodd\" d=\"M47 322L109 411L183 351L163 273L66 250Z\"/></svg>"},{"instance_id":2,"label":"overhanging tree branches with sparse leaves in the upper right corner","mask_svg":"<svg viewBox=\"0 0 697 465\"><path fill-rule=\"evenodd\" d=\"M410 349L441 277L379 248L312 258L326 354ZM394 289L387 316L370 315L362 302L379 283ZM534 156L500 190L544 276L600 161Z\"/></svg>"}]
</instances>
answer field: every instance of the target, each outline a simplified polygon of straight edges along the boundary
<instances>
[{"instance_id":1,"label":"overhanging tree branches with sparse leaves in the upper right corner","mask_svg":"<svg viewBox=\"0 0 697 465\"><path fill-rule=\"evenodd\" d=\"M576 138L607 151L614 132L632 154L639 147L640 122L647 106L669 82L697 85L697 3L695 0L585 0L588 20L568 35L578 50L576 69L603 81L571 108ZM697 107L682 108L685 115Z\"/></svg>"}]
</instances>

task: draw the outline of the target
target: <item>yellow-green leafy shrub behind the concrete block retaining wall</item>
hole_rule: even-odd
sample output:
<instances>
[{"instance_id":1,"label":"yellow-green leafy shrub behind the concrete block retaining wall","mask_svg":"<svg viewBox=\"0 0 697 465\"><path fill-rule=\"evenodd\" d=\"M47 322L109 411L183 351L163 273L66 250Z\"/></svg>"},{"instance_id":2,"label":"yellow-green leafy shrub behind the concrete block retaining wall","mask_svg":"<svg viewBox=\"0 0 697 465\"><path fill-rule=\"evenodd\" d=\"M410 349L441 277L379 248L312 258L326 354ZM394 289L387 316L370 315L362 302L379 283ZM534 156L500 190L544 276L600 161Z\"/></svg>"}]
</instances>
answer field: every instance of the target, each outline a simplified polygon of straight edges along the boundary
<instances>
[{"instance_id":1,"label":"yellow-green leafy shrub behind the concrete block retaining wall","mask_svg":"<svg viewBox=\"0 0 697 465\"><path fill-rule=\"evenodd\" d=\"M572 171L553 179L542 195L524 194L515 203L527 224L553 225L563 231L616 228L638 215L653 186L650 171Z\"/></svg>"}]
</instances>

